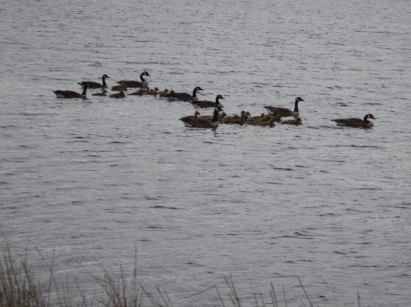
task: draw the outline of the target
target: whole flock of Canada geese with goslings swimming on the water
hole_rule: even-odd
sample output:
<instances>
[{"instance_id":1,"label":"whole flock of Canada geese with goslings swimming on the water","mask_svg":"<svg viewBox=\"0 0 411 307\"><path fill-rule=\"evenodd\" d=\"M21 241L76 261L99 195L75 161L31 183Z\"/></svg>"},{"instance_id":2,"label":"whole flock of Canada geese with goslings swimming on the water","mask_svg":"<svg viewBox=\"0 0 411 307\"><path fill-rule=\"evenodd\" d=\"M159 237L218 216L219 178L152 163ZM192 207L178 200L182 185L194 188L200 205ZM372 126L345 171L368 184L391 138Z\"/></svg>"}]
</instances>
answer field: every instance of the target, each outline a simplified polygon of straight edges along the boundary
<instances>
[{"instance_id":1,"label":"whole flock of Canada geese with goslings swimming on the water","mask_svg":"<svg viewBox=\"0 0 411 307\"><path fill-rule=\"evenodd\" d=\"M298 111L298 103L305 101L301 97L296 97L294 102L294 110L290 110L284 107L272 107L265 106L264 108L268 111L268 114L261 113L258 116L251 116L248 111L241 111L239 115L234 114L228 116L223 112L224 107L220 103L220 99L225 99L221 95L217 95L215 101L210 100L199 100L197 96L198 91L203 89L196 86L193 89L192 94L186 92L176 92L174 90L164 89L160 91L157 87L154 89L148 88L148 81L145 79L146 76L150 76L147 71L143 71L140 74L140 81L138 80L119 80L117 85L111 87L113 93L109 94L109 98L124 98L126 96L125 92L128 88L138 88L138 90L129 93L127 96L135 95L153 95L159 96L169 100L180 100L188 101L194 108L214 108L212 115L201 115L198 110L194 112L194 115L186 115L179 120L181 120L185 127L191 128L216 128L219 124L231 124L231 125L253 125L253 126L264 126L264 127L274 127L275 122L279 122L285 125L303 125L303 120L300 117L300 112ZM92 96L107 96L107 84L105 79L109 78L108 75L103 74L101 77L101 83L95 81L81 81L78 84L82 87L83 91L81 93L68 90L57 90L52 91L57 98L86 98L87 89L101 89L100 92L92 93ZM221 112L221 113L220 113ZM283 117L294 117L292 119L284 119ZM340 118L331 119L337 126L346 126L353 128L371 128L373 127L373 122L369 119L376 119L372 114L367 114L363 119L361 118Z\"/></svg>"}]
</instances>

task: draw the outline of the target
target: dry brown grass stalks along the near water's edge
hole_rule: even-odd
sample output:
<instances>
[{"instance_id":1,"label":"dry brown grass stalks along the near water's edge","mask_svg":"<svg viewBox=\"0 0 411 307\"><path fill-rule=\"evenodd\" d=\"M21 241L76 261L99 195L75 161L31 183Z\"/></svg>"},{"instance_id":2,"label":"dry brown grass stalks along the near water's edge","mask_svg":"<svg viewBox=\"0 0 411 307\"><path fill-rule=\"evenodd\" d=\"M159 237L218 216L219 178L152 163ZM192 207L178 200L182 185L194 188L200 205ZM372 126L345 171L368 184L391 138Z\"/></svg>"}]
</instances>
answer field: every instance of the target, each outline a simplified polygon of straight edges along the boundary
<instances>
[{"instance_id":1,"label":"dry brown grass stalks along the near water's edge","mask_svg":"<svg viewBox=\"0 0 411 307\"><path fill-rule=\"evenodd\" d=\"M76 286L70 286L68 280L66 285L58 286L53 276L53 259L51 263L42 256L49 270L49 279L47 281L47 289L42 292L44 287L41 286L40 281L36 281L33 272L29 269L27 263L27 256L23 256L16 261L10 252L10 247L6 242L2 246L3 255L0 257L0 306L7 307L71 307L71 306L102 306L102 307L174 307L169 295L164 290L160 290L156 287L156 292L151 294L145 287L139 282L136 277L136 269L134 270L132 281L126 285L126 280L123 274L123 269L120 268L120 279L115 280L103 267L103 278L92 275L84 268L84 270L94 278L96 283L102 290L101 297L86 297L83 290L79 286L76 280ZM298 277L297 277L298 278ZM229 299L223 300L219 290L216 286L212 286L206 290L196 293L190 297L196 296L202 292L216 290L219 297L218 306L222 307L264 307L273 306L279 307L279 301L282 301L281 306L287 307L286 294L283 292L277 294L274 291L274 287L271 284L270 294L266 295L266 300L263 295L259 293L254 294L254 302L245 304L240 300L239 295L234 287L233 280L231 278L225 278L226 284L229 289ZM301 306L313 306L310 297L300 282L302 293L304 293L304 300L301 299ZM74 287L74 289L72 289ZM72 293L79 293L79 297L72 297ZM53 293L53 294L52 294ZM269 299L267 299L267 297ZM279 298L281 297L281 299ZM208 305L203 303L204 306ZM360 306L360 299L358 298L358 305Z\"/></svg>"}]
</instances>

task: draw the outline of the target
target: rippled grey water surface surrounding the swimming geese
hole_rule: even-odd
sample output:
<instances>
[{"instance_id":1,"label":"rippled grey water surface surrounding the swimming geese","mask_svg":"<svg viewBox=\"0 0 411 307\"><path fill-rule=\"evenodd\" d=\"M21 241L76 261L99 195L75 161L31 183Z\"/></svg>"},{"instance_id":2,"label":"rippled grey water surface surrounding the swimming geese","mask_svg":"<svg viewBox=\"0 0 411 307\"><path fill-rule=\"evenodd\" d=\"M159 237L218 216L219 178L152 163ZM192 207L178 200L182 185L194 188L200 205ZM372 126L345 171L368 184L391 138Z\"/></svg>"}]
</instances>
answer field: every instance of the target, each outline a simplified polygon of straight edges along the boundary
<instances>
[{"instance_id":1,"label":"rippled grey water surface surrounding the swimming geese","mask_svg":"<svg viewBox=\"0 0 411 307\"><path fill-rule=\"evenodd\" d=\"M405 306L411 293L409 1L51 0L0 5L0 226L42 274L80 267L165 289L175 306L278 293L288 306ZM189 103L57 99L138 79L221 94L228 114L303 126L185 128ZM211 113L210 110L202 114ZM372 113L372 129L332 118ZM40 271L40 272L39 272ZM43 271L44 272L44 271ZM47 275L47 273L45 274ZM75 291L74 291L75 292ZM266 303L270 301L265 297ZM284 305L284 299L279 299Z\"/></svg>"}]
</instances>

